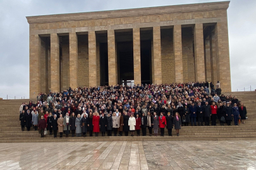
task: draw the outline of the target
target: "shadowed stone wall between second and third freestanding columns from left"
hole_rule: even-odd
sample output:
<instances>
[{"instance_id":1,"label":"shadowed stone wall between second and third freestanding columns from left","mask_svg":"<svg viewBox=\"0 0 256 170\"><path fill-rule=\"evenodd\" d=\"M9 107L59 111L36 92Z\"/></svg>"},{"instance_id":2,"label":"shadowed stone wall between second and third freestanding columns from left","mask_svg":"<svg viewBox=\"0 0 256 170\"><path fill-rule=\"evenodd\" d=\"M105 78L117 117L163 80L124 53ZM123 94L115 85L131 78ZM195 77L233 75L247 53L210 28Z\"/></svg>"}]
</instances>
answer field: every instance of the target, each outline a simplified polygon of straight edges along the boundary
<instances>
[{"instance_id":1,"label":"shadowed stone wall between second and third freestanding columns from left","mask_svg":"<svg viewBox=\"0 0 256 170\"><path fill-rule=\"evenodd\" d=\"M89 86L89 60L88 60L88 36L86 40L78 41L78 86Z\"/></svg>"}]
</instances>

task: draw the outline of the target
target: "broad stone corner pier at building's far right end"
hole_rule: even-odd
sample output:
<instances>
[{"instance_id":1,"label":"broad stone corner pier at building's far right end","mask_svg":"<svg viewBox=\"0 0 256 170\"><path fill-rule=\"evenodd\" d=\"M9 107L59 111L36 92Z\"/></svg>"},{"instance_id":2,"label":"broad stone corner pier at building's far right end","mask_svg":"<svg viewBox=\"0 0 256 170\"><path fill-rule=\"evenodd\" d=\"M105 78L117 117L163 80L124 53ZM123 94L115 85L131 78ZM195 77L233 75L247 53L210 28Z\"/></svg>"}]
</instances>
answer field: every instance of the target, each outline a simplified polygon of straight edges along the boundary
<instances>
[{"instance_id":1,"label":"broad stone corner pier at building's far right end","mask_svg":"<svg viewBox=\"0 0 256 170\"><path fill-rule=\"evenodd\" d=\"M216 54L217 54L217 81L221 82L224 92L231 91L229 42L228 42L228 20L221 18L216 24ZM216 84L216 82L214 82Z\"/></svg>"}]
</instances>

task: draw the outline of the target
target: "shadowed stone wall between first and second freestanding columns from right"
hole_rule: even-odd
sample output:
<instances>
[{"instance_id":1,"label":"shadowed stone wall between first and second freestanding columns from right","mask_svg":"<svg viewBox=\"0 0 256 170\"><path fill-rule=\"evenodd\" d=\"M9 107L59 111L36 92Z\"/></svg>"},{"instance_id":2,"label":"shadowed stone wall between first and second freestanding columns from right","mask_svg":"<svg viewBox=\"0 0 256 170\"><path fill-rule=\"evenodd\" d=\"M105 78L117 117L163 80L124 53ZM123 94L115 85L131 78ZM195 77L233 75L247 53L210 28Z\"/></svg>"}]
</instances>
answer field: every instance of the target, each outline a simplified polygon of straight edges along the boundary
<instances>
[{"instance_id":1,"label":"shadowed stone wall between first and second freestanding columns from right","mask_svg":"<svg viewBox=\"0 0 256 170\"><path fill-rule=\"evenodd\" d=\"M193 56L192 28L182 28L182 58L184 82L195 82L195 60Z\"/></svg>"}]
</instances>

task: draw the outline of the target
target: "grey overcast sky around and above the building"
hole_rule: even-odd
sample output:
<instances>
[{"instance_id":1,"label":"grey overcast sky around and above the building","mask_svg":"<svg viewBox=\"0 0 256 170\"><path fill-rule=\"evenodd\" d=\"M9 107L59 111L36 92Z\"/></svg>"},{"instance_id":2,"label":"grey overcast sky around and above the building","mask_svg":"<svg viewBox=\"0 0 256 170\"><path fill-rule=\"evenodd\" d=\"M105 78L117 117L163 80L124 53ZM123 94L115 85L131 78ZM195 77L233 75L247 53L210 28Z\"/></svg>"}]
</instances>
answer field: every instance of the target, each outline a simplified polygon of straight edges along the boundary
<instances>
[{"instance_id":1,"label":"grey overcast sky around and above the building","mask_svg":"<svg viewBox=\"0 0 256 170\"><path fill-rule=\"evenodd\" d=\"M0 0L0 98L29 97L29 41L25 16L145 8L214 0ZM256 1L231 0L228 8L232 91L256 89ZM250 89L247 89L250 90Z\"/></svg>"}]
</instances>

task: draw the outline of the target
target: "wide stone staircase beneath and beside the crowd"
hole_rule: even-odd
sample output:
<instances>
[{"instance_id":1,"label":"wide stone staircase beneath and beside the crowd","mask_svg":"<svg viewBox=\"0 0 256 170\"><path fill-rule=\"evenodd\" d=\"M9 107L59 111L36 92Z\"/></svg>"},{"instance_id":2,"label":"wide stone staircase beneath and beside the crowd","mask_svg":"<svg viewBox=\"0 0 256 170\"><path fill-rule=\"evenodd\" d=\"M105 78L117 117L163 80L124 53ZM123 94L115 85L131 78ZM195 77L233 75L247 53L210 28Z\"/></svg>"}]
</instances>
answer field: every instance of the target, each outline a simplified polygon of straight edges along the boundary
<instances>
[{"instance_id":1,"label":"wide stone staircase beneath and beside the crowd","mask_svg":"<svg viewBox=\"0 0 256 170\"><path fill-rule=\"evenodd\" d=\"M130 133L128 137L63 137L54 139L53 135L46 135L44 138L40 138L38 131L34 131L31 128L30 132L21 131L19 120L19 108L22 102L29 101L30 99L12 99L12 100L0 100L0 142L67 142L67 141L118 141L118 140L255 140L256 139L256 92L233 92L232 94L247 106L248 120L245 124L235 126L232 122L232 126L220 126L219 121L217 126L208 127L181 127L180 136L177 137L175 130L173 129L173 136L169 137L167 130L165 129L166 136L152 136L149 137L131 137ZM32 99L33 100L33 99ZM35 101L35 100L33 100ZM142 132L141 132L142 133ZM148 133L148 130L147 130ZM87 133L88 136L88 133Z\"/></svg>"}]
</instances>

